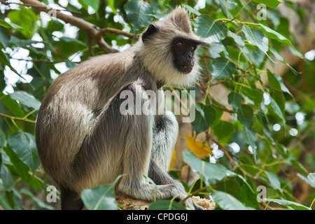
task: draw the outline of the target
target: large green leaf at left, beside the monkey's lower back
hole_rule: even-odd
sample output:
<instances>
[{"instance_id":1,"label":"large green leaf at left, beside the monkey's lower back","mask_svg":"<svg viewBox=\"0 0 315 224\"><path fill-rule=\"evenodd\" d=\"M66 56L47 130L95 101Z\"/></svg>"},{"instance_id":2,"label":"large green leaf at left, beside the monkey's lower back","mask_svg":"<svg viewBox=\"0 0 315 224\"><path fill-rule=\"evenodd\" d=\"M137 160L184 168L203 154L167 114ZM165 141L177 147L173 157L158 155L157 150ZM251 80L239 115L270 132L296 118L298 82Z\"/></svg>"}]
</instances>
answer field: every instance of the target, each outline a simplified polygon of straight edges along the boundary
<instances>
[{"instance_id":1,"label":"large green leaf at left, beside the monkey's lower back","mask_svg":"<svg viewBox=\"0 0 315 224\"><path fill-rule=\"evenodd\" d=\"M34 135L27 132L15 132L8 136L8 144L33 172L41 165Z\"/></svg>"}]
</instances>

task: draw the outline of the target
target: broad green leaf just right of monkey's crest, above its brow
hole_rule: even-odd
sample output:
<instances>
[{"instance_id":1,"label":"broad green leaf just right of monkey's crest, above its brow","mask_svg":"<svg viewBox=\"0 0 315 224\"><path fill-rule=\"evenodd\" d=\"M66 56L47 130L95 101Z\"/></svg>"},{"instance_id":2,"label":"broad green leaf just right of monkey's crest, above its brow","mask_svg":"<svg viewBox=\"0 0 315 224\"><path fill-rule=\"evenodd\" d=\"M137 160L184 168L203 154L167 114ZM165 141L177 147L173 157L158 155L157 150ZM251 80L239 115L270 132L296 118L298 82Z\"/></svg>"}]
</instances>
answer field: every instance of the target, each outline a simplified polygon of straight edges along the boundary
<instances>
[{"instance_id":1,"label":"broad green leaf just right of monkey's crest, above its brow","mask_svg":"<svg viewBox=\"0 0 315 224\"><path fill-rule=\"evenodd\" d=\"M211 44L222 41L228 34L228 27L209 15L200 15L195 20L195 33L202 38L206 38L205 41Z\"/></svg>"}]
</instances>

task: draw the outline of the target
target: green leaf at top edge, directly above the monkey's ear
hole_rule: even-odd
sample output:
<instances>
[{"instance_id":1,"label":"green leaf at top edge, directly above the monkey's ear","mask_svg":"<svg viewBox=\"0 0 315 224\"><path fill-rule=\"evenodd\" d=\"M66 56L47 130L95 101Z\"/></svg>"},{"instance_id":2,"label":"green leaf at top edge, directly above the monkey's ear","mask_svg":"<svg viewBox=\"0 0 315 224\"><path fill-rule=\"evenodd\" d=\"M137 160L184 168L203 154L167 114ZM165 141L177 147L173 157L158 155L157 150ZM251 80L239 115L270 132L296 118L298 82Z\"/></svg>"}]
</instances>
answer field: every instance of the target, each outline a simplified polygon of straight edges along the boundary
<instances>
[{"instance_id":1,"label":"green leaf at top edge, directly above the monkey's ear","mask_svg":"<svg viewBox=\"0 0 315 224\"><path fill-rule=\"evenodd\" d=\"M152 20L151 14L154 14L151 4L143 0L127 1L124 8L127 14L127 20L134 28L134 31L148 25Z\"/></svg>"}]
</instances>

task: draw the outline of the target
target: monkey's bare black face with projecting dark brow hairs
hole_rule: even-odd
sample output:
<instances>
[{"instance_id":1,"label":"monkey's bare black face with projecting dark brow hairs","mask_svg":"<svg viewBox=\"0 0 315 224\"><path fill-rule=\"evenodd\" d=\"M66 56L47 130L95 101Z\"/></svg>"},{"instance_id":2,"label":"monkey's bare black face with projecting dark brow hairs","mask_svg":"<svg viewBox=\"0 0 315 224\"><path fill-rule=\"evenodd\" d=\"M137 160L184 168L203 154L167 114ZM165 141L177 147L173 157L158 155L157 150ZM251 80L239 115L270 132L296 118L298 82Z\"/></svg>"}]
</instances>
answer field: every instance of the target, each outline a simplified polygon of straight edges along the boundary
<instances>
[{"instance_id":1,"label":"monkey's bare black face with projecting dark brow hairs","mask_svg":"<svg viewBox=\"0 0 315 224\"><path fill-rule=\"evenodd\" d=\"M206 45L202 41L197 41L186 37L176 37L172 41L172 52L174 55L174 66L181 73L190 73L195 64L194 54L198 45Z\"/></svg>"}]
</instances>

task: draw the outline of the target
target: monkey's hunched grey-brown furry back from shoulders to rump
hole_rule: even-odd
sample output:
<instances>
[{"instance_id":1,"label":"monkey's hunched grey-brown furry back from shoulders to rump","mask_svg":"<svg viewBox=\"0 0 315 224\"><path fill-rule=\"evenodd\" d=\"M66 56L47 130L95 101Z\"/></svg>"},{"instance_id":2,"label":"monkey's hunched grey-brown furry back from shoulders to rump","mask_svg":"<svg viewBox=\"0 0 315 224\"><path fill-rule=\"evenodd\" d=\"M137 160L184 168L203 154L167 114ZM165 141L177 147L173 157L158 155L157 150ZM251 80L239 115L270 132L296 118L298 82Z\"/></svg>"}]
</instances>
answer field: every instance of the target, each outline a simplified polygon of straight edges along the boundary
<instances>
[{"instance_id":1,"label":"monkey's hunched grey-brown furry back from shoulders to rump","mask_svg":"<svg viewBox=\"0 0 315 224\"><path fill-rule=\"evenodd\" d=\"M122 60L124 66L117 68L115 64ZM66 71L50 86L38 111L36 145L43 168L59 184L71 186L74 179L83 178L73 168L78 166L76 156L99 114L139 78L141 71L134 71L132 63L134 55L128 50L94 57ZM121 75L125 73L131 75Z\"/></svg>"}]
</instances>

